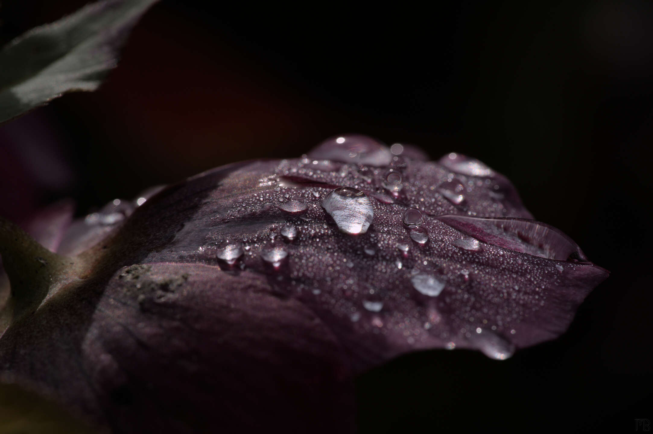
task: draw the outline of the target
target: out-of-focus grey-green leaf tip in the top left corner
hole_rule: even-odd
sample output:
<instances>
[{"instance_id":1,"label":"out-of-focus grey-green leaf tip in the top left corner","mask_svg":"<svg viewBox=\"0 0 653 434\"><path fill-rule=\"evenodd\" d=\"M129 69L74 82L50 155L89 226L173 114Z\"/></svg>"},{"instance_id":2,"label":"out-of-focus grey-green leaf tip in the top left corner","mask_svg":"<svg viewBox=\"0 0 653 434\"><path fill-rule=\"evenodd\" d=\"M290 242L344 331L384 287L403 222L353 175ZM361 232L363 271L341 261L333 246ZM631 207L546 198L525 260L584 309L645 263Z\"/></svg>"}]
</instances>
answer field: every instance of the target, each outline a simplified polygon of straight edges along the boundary
<instances>
[{"instance_id":1,"label":"out-of-focus grey-green leaf tip in the top left corner","mask_svg":"<svg viewBox=\"0 0 653 434\"><path fill-rule=\"evenodd\" d=\"M158 0L106 0L35 27L0 52L0 123L63 93L94 91L138 18Z\"/></svg>"}]
</instances>

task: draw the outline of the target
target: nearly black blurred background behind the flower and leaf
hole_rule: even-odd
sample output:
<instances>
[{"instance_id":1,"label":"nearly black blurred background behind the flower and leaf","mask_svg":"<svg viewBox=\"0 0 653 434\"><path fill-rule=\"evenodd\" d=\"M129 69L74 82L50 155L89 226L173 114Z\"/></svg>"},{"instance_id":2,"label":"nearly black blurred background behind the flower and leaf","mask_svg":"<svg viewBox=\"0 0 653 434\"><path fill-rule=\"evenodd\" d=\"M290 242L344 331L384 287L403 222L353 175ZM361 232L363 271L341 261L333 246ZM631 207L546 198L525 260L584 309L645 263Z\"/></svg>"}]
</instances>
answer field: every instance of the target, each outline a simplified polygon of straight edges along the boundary
<instances>
[{"instance_id":1,"label":"nearly black blurred background behind the flower and leaf","mask_svg":"<svg viewBox=\"0 0 653 434\"><path fill-rule=\"evenodd\" d=\"M84 3L5 1L0 42ZM569 332L506 362L432 351L362 376L360 432L653 420L652 2L229 3L164 0L98 92L0 127L0 213L21 221L71 196L84 215L343 132L465 153L612 275Z\"/></svg>"}]
</instances>

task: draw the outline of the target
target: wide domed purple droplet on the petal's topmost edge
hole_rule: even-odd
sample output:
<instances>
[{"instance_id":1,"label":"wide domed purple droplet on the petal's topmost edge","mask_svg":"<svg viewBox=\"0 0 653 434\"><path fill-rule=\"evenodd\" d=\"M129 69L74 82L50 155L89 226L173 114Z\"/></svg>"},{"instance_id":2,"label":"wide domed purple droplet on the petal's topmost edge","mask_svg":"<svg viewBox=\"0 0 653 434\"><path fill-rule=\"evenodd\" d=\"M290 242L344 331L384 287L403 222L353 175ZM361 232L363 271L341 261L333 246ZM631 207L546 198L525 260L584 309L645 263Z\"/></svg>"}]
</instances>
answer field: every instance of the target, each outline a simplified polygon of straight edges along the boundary
<instances>
[{"instance_id":1,"label":"wide domed purple droplet on the petal's topmost edge","mask_svg":"<svg viewBox=\"0 0 653 434\"><path fill-rule=\"evenodd\" d=\"M387 146L360 134L329 138L310 151L308 156L377 167L387 166L392 161L392 153Z\"/></svg>"}]
</instances>

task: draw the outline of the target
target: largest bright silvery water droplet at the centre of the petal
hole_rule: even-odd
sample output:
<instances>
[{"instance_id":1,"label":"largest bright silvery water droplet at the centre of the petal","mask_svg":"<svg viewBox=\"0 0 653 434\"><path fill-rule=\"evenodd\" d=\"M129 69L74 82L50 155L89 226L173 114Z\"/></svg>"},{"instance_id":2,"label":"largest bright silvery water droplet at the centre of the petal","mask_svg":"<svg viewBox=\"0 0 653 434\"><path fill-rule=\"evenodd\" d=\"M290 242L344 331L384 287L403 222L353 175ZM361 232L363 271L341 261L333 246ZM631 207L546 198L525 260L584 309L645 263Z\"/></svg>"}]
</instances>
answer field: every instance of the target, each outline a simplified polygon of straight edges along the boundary
<instances>
[{"instance_id":1,"label":"largest bright silvery water droplet at the centre of the petal","mask_svg":"<svg viewBox=\"0 0 653 434\"><path fill-rule=\"evenodd\" d=\"M345 234L364 234L374 219L370 198L362 191L351 187L340 187L330 191L322 201L322 208Z\"/></svg>"}]
</instances>

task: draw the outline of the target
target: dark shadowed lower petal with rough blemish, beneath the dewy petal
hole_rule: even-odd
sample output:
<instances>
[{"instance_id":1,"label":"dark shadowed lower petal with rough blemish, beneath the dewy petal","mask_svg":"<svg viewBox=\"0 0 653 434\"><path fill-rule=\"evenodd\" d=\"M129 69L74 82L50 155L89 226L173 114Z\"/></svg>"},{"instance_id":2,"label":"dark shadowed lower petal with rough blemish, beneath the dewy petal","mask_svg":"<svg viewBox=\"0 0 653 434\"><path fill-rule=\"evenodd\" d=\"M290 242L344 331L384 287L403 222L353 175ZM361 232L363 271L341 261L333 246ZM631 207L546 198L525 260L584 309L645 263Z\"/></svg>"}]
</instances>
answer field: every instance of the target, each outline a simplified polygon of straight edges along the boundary
<instances>
[{"instance_id":1,"label":"dark shadowed lower petal with rough blemish, beneath the dewy petal","mask_svg":"<svg viewBox=\"0 0 653 434\"><path fill-rule=\"evenodd\" d=\"M264 276L135 265L61 295L3 336L3 367L46 384L98 424L121 433L353 432L342 347ZM28 342L48 358L7 360Z\"/></svg>"}]
</instances>

